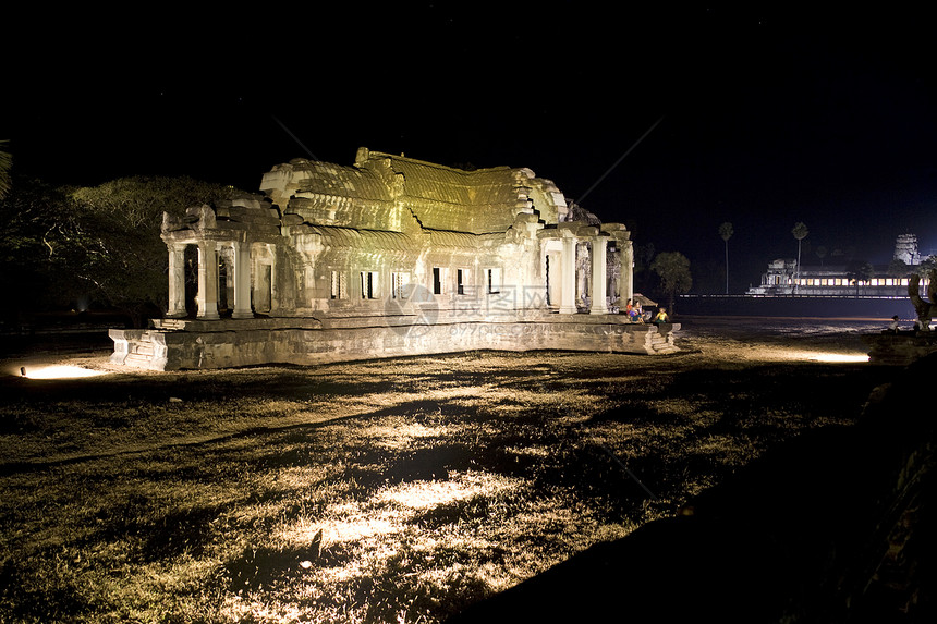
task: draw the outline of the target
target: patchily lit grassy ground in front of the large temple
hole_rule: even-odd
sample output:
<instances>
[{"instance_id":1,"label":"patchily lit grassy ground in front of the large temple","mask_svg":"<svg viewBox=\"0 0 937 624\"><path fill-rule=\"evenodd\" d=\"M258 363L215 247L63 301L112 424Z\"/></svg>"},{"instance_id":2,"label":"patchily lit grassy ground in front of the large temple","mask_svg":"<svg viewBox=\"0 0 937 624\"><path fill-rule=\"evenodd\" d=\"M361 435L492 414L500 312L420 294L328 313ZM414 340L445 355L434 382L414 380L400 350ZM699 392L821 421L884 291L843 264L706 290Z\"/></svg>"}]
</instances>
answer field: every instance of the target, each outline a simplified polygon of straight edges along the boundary
<instances>
[{"instance_id":1,"label":"patchily lit grassy ground in front of the large temple","mask_svg":"<svg viewBox=\"0 0 937 624\"><path fill-rule=\"evenodd\" d=\"M0 621L440 622L887 377L682 345L3 378Z\"/></svg>"}]
</instances>

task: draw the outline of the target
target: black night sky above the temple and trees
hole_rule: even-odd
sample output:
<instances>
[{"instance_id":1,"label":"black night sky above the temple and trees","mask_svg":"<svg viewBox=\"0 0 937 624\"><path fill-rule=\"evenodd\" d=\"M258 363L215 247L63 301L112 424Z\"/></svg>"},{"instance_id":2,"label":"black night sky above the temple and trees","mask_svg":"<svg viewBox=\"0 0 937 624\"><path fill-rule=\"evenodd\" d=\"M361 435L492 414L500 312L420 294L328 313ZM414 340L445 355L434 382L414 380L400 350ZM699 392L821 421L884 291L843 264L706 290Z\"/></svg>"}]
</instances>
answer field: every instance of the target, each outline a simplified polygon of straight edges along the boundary
<instances>
[{"instance_id":1,"label":"black night sky above the temple and trees","mask_svg":"<svg viewBox=\"0 0 937 624\"><path fill-rule=\"evenodd\" d=\"M734 292L796 255L796 221L812 248L872 262L904 232L937 249L923 10L308 5L11 20L0 138L19 172L81 185L256 191L278 163L351 164L360 146L528 167L636 244L686 255L710 292L723 221Z\"/></svg>"}]
</instances>

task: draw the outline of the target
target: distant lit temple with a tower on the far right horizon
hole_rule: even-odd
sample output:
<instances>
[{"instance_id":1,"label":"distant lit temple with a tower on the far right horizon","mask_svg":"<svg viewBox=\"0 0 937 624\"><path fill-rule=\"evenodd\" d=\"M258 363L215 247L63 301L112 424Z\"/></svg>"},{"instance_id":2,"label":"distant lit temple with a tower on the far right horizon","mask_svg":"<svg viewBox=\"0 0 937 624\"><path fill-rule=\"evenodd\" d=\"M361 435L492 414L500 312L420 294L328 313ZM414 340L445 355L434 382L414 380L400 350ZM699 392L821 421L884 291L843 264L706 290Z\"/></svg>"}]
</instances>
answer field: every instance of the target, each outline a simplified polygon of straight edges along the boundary
<instances>
[{"instance_id":1,"label":"distant lit temple with a tower on the far right horizon","mask_svg":"<svg viewBox=\"0 0 937 624\"><path fill-rule=\"evenodd\" d=\"M902 269L895 260L905 265ZM901 234L895 243L895 255L888 265L801 266L794 259L777 259L768 264L760 285L749 289L756 296L857 296L908 297L908 284L921 265L917 236ZM928 280L921 280L921 287Z\"/></svg>"}]
</instances>

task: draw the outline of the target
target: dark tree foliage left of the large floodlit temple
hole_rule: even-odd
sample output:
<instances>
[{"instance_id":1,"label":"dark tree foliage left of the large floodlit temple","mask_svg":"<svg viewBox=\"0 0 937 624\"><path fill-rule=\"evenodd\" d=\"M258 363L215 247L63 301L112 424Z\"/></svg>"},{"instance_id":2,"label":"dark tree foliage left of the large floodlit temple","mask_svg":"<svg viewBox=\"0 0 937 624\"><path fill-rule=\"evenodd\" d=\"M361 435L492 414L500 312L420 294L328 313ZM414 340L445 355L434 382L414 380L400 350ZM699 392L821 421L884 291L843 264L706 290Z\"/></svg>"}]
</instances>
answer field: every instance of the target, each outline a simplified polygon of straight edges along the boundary
<instances>
[{"instance_id":1,"label":"dark tree foliage left of the large floodlit temple","mask_svg":"<svg viewBox=\"0 0 937 624\"><path fill-rule=\"evenodd\" d=\"M24 311L87 304L121 310L139 326L167 304L162 212L182 215L232 191L190 178L81 188L16 180L0 199L0 283Z\"/></svg>"}]
</instances>

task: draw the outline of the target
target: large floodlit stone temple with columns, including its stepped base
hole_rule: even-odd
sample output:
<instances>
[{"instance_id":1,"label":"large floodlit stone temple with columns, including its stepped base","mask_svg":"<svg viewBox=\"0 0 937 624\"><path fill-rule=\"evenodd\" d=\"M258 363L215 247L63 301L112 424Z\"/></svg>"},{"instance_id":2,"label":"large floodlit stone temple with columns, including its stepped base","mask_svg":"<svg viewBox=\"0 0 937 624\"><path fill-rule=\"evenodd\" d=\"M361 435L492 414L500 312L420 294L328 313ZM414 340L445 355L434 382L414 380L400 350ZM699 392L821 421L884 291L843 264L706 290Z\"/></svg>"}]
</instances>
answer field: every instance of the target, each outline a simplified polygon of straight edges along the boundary
<instances>
[{"instance_id":1,"label":"large floodlit stone temple with columns, including its stepped base","mask_svg":"<svg viewBox=\"0 0 937 624\"><path fill-rule=\"evenodd\" d=\"M111 330L113 363L677 351L679 326L617 314L633 294L625 227L530 169L462 171L361 148L351 167L275 167L260 192L163 216L169 309L149 329Z\"/></svg>"}]
</instances>

